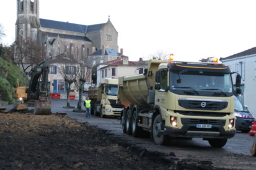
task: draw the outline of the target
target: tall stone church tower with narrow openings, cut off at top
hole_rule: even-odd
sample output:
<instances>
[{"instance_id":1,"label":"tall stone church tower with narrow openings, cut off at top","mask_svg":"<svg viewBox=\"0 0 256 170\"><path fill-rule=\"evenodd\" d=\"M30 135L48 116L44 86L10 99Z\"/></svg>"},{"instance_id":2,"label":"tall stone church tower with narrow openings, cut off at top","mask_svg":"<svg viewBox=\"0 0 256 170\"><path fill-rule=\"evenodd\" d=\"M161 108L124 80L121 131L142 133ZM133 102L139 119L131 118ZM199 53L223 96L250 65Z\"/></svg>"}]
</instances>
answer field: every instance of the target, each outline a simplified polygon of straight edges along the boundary
<instances>
[{"instance_id":1,"label":"tall stone church tower with narrow openings, cut off at top","mask_svg":"<svg viewBox=\"0 0 256 170\"><path fill-rule=\"evenodd\" d=\"M17 0L16 40L36 40L39 27L39 0Z\"/></svg>"}]
</instances>

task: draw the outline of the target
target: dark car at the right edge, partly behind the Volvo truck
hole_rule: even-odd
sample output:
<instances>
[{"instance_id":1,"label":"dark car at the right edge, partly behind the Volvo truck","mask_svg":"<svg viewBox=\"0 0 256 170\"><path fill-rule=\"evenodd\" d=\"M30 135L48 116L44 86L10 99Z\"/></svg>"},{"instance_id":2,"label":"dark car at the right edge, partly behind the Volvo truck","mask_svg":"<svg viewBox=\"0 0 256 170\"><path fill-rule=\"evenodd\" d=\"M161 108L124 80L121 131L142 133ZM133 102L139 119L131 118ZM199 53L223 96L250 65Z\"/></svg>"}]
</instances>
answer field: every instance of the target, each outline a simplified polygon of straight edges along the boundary
<instances>
[{"instance_id":1,"label":"dark car at the right edge, partly behind the Volvo truck","mask_svg":"<svg viewBox=\"0 0 256 170\"><path fill-rule=\"evenodd\" d=\"M234 116L236 116L236 130L248 133L255 119L252 113L248 111L248 108L241 104L237 97L234 99Z\"/></svg>"}]
</instances>

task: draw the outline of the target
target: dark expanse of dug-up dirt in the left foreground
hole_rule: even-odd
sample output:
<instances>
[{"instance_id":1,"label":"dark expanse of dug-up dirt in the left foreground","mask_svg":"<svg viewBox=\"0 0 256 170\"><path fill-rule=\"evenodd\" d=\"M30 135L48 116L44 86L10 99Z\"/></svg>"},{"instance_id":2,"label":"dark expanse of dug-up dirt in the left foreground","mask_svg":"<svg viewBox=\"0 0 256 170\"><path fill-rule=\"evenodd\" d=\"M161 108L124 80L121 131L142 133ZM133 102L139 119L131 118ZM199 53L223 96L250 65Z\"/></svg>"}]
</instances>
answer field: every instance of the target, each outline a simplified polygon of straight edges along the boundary
<instances>
[{"instance_id":1,"label":"dark expanse of dug-up dirt in the left foreground","mask_svg":"<svg viewBox=\"0 0 256 170\"><path fill-rule=\"evenodd\" d=\"M0 169L219 169L148 152L63 114L0 113Z\"/></svg>"}]
</instances>

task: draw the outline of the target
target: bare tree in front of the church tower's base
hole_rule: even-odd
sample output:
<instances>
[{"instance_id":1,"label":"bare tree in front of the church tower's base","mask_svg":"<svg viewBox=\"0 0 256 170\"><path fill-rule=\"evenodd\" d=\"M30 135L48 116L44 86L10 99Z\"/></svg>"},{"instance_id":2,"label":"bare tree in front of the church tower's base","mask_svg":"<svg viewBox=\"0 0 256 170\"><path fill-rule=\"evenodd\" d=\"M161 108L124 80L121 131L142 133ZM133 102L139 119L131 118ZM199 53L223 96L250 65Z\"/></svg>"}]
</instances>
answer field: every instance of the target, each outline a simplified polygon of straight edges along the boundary
<instances>
[{"instance_id":1,"label":"bare tree in front of the church tower's base","mask_svg":"<svg viewBox=\"0 0 256 170\"><path fill-rule=\"evenodd\" d=\"M21 43L16 42L15 63L22 68L24 72L30 73L29 68L46 59L46 50L31 39L23 40Z\"/></svg>"}]
</instances>

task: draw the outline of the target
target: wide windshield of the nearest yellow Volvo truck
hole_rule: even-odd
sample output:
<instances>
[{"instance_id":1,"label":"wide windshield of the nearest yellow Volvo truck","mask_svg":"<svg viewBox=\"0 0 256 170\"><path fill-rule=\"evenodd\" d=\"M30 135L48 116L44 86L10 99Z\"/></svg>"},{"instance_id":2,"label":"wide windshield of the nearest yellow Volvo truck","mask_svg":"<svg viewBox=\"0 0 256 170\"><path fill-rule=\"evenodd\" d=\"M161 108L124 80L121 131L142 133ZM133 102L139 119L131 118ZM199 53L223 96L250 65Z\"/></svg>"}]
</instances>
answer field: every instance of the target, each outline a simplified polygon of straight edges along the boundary
<instances>
[{"instance_id":1,"label":"wide windshield of the nearest yellow Volvo truck","mask_svg":"<svg viewBox=\"0 0 256 170\"><path fill-rule=\"evenodd\" d=\"M231 74L172 70L170 71L170 90L182 95L228 97L233 92Z\"/></svg>"}]
</instances>

